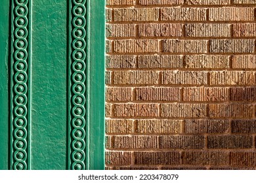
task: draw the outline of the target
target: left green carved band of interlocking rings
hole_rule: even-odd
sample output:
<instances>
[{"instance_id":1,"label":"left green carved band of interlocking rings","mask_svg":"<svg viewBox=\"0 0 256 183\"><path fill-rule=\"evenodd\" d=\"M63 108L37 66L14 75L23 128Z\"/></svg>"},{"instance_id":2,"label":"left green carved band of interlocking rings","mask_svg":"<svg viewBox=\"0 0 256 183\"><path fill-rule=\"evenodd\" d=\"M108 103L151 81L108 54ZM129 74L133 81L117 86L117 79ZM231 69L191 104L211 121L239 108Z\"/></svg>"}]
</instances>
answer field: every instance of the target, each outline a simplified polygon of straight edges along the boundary
<instances>
[{"instance_id":1,"label":"left green carved band of interlocking rings","mask_svg":"<svg viewBox=\"0 0 256 183\"><path fill-rule=\"evenodd\" d=\"M29 1L12 1L11 169L29 169Z\"/></svg>"}]
</instances>

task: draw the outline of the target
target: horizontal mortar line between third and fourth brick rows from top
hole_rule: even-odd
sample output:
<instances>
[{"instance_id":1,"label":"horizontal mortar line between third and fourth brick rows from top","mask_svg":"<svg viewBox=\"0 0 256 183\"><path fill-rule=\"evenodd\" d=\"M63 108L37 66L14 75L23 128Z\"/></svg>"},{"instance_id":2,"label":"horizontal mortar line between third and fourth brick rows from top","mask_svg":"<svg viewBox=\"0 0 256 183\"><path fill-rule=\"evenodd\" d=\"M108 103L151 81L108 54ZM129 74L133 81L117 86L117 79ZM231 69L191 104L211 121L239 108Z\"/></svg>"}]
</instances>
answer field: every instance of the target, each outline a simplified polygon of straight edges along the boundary
<instances>
[{"instance_id":1,"label":"horizontal mortar line between third and fourth brick rows from top","mask_svg":"<svg viewBox=\"0 0 256 183\"><path fill-rule=\"evenodd\" d=\"M256 35L255 35L256 37ZM165 40L192 40L192 41L211 41L211 40L255 40L255 37L232 37L230 35L230 37L216 37L216 36L212 36L212 37L188 37L188 36L183 36L183 37L177 37L177 36L173 36L173 37L107 37L107 40L109 41L127 41L127 40L133 40L133 41L137 41L137 40L152 40L154 39L155 41L165 41Z\"/></svg>"}]
</instances>

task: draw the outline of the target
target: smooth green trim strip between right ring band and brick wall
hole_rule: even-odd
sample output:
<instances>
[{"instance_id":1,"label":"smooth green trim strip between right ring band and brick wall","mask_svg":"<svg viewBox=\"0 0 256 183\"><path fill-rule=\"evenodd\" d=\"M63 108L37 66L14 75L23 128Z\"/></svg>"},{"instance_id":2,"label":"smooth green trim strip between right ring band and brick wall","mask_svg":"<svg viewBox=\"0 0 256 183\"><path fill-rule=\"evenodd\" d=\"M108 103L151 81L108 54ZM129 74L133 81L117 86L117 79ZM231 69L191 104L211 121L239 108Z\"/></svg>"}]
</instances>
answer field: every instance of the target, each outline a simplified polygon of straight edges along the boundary
<instances>
[{"instance_id":1,"label":"smooth green trim strip between right ring band and brick wall","mask_svg":"<svg viewBox=\"0 0 256 183\"><path fill-rule=\"evenodd\" d=\"M87 0L87 169L105 166L105 0Z\"/></svg>"}]
</instances>

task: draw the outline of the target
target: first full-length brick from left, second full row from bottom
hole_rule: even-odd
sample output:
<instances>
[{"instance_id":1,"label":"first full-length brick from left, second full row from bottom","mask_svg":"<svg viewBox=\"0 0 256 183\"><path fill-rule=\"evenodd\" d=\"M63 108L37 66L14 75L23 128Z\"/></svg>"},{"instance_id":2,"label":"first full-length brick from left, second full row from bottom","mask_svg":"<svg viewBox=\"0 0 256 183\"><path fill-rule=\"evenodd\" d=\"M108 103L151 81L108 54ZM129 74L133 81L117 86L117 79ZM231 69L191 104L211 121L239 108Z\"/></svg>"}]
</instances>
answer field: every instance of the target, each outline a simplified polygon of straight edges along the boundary
<instances>
[{"instance_id":1,"label":"first full-length brick from left, second full row from bottom","mask_svg":"<svg viewBox=\"0 0 256 183\"><path fill-rule=\"evenodd\" d=\"M111 148L118 149L146 149L158 148L158 136L112 136Z\"/></svg>"}]
</instances>

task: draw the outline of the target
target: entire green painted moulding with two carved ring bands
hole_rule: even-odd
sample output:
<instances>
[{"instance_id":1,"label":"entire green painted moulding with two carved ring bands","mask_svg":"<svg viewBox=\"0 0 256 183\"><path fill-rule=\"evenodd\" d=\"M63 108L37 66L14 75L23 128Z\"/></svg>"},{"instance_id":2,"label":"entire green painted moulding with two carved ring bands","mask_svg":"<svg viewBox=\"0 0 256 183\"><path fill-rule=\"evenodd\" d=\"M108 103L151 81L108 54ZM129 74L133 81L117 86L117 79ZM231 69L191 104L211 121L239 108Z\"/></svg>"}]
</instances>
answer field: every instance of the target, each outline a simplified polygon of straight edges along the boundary
<instances>
[{"instance_id":1,"label":"entire green painted moulding with two carved ring bands","mask_svg":"<svg viewBox=\"0 0 256 183\"><path fill-rule=\"evenodd\" d=\"M3 1L0 17L0 169L104 169L105 1Z\"/></svg>"}]
</instances>

